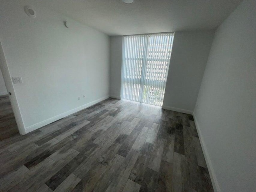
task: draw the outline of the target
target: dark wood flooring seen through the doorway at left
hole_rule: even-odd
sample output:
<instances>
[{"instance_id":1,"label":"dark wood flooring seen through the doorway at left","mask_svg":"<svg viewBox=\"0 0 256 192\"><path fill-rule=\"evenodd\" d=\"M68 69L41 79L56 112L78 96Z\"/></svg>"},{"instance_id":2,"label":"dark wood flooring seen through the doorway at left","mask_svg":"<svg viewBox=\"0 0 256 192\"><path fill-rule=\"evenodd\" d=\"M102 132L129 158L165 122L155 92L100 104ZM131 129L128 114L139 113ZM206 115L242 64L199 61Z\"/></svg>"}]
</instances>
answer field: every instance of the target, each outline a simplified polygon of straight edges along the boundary
<instances>
[{"instance_id":1,"label":"dark wood flooring seen through the doorway at left","mask_svg":"<svg viewBox=\"0 0 256 192\"><path fill-rule=\"evenodd\" d=\"M10 99L8 95L0 96L0 141L18 133Z\"/></svg>"}]
</instances>

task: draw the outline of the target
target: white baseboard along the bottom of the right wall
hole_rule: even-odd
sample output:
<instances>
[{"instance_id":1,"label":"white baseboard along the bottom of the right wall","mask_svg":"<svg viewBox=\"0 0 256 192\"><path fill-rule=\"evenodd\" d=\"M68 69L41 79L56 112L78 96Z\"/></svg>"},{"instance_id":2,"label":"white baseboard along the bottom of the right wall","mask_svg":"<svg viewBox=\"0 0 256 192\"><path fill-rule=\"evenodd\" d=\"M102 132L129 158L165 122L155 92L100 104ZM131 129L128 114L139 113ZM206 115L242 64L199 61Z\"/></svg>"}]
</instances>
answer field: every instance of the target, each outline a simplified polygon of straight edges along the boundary
<instances>
[{"instance_id":1,"label":"white baseboard along the bottom of the right wall","mask_svg":"<svg viewBox=\"0 0 256 192\"><path fill-rule=\"evenodd\" d=\"M198 137L199 137L199 140L200 140L200 143L201 143L201 146L202 146L202 150L203 150L203 153L204 153L204 158L205 158L205 161L206 161L206 164L207 164L207 168L208 168L208 171L209 171L209 174L210 174L210 178L212 180L212 186L213 186L214 192L221 192L220 191L220 186L219 186L217 178L216 178L216 174L215 174L214 169L212 167L212 162L210 160L210 156L207 152L206 145L205 145L204 139L202 137L202 132L201 132L200 126L198 124L198 121L196 119L196 115L194 113L193 113L193 118L194 118L194 122L195 122L195 125L196 125L196 130L197 130L197 133L198 133Z\"/></svg>"}]
</instances>

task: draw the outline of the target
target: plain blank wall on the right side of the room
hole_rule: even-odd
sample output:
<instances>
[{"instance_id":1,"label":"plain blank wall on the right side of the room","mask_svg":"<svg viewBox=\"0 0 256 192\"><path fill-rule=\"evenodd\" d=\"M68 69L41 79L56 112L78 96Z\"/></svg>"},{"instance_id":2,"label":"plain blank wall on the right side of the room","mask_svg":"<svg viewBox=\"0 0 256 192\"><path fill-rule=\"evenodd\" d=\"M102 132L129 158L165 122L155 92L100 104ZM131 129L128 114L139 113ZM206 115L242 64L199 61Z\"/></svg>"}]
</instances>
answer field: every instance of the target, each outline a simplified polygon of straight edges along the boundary
<instances>
[{"instance_id":1,"label":"plain blank wall on the right side of the room","mask_svg":"<svg viewBox=\"0 0 256 192\"><path fill-rule=\"evenodd\" d=\"M256 190L256 1L216 31L194 116L216 191Z\"/></svg>"}]
</instances>

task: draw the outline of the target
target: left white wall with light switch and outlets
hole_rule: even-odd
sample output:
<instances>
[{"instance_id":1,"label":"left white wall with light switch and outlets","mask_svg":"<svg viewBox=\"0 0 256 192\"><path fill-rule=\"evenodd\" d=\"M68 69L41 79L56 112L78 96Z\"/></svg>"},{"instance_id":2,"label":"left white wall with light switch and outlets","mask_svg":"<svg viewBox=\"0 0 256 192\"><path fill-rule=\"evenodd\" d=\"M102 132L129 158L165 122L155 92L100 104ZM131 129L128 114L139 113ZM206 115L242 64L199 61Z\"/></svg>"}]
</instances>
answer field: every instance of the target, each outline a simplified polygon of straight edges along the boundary
<instances>
[{"instance_id":1,"label":"left white wall with light switch and outlets","mask_svg":"<svg viewBox=\"0 0 256 192\"><path fill-rule=\"evenodd\" d=\"M34 7L35 19L25 5ZM10 76L23 80L12 86L26 132L109 96L107 35L32 0L1 1L0 26Z\"/></svg>"}]
</instances>

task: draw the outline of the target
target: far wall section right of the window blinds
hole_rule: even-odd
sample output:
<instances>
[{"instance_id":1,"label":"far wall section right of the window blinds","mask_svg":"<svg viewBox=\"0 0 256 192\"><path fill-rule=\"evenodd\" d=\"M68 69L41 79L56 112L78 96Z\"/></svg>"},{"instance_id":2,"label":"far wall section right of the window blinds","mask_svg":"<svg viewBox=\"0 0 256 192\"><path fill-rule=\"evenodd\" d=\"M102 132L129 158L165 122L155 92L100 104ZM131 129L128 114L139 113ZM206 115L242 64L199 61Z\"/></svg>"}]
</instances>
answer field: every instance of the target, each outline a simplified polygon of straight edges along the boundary
<instances>
[{"instance_id":1,"label":"far wall section right of the window blinds","mask_svg":"<svg viewBox=\"0 0 256 192\"><path fill-rule=\"evenodd\" d=\"M175 32L163 107L192 114L214 31Z\"/></svg>"}]
</instances>

